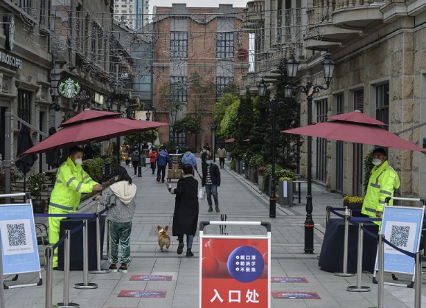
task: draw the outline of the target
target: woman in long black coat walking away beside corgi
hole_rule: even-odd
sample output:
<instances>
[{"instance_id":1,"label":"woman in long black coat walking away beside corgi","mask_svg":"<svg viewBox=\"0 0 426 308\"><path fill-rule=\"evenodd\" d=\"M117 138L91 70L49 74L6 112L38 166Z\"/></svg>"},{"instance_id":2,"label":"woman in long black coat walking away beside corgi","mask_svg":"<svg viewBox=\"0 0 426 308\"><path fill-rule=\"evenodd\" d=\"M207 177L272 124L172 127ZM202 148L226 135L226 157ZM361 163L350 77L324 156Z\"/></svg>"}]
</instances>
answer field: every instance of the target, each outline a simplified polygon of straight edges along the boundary
<instances>
[{"instance_id":1,"label":"woman in long black coat walking away beside corgi","mask_svg":"<svg viewBox=\"0 0 426 308\"><path fill-rule=\"evenodd\" d=\"M171 194L176 194L175 212L173 212L172 235L177 236L179 246L177 254L184 251L184 234L186 234L186 257L193 257L194 235L198 224L198 181L193 176L193 166L185 164L182 167L184 177L177 181L177 188L166 184Z\"/></svg>"}]
</instances>

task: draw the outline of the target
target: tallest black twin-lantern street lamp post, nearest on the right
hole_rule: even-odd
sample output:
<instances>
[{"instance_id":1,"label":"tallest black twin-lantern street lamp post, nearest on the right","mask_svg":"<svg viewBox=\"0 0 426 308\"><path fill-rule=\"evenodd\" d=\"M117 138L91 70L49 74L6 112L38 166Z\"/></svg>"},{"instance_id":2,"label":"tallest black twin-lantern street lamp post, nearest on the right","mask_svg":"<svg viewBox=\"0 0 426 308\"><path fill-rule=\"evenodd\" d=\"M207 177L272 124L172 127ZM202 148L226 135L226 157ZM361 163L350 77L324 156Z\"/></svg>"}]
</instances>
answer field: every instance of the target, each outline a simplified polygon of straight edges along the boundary
<instances>
[{"instance_id":1,"label":"tallest black twin-lantern street lamp post, nearest on the right","mask_svg":"<svg viewBox=\"0 0 426 308\"><path fill-rule=\"evenodd\" d=\"M321 85L312 85L312 81L309 80L308 84L295 85L293 84L294 78L296 78L297 69L299 62L294 59L294 56L290 57L285 66L287 68L287 76L290 78L290 82L285 86L284 93L286 98L291 98L293 90L299 89L302 93L306 94L308 100L308 125L312 123L312 99L314 93L319 93L320 90L326 90L330 87L332 80L332 73L335 69L335 62L331 60L331 54L326 53L323 61L323 75L326 80L326 87ZM306 219L305 219L305 253L314 253L314 220L312 219L312 137L308 136L308 193L306 196Z\"/></svg>"}]
</instances>

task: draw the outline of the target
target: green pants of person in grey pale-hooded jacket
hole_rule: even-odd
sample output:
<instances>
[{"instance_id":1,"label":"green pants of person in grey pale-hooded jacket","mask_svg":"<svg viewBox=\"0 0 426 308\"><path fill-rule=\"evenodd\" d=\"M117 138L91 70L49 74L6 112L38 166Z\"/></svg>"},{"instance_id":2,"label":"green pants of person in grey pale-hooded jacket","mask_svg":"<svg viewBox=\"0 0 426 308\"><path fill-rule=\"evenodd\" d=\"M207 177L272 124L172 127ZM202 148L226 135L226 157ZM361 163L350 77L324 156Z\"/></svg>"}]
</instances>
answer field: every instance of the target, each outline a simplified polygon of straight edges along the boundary
<instances>
[{"instance_id":1,"label":"green pants of person in grey pale-hooded jacket","mask_svg":"<svg viewBox=\"0 0 426 308\"><path fill-rule=\"evenodd\" d=\"M109 263L118 263L118 244L121 244L121 262L130 261L130 233L132 231L132 221L114 222L108 221L109 228Z\"/></svg>"}]
</instances>

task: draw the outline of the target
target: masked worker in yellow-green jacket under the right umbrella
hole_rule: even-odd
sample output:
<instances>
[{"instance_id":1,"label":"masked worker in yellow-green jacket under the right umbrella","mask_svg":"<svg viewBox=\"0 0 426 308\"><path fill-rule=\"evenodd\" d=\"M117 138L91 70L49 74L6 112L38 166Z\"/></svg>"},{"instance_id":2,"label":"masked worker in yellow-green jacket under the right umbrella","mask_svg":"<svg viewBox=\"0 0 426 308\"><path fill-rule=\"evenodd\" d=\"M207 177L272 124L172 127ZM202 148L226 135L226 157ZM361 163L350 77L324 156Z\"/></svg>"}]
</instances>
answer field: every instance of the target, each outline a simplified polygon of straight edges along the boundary
<instances>
[{"instance_id":1,"label":"masked worker in yellow-green jacket under the right umbrella","mask_svg":"<svg viewBox=\"0 0 426 308\"><path fill-rule=\"evenodd\" d=\"M362 203L362 214L372 218L381 218L384 209L384 200L393 197L393 191L400 187L398 173L388 164L386 151L382 148L373 150L373 169L369 179L367 192ZM389 201L392 205L392 200ZM380 221L373 221L379 225Z\"/></svg>"}]
</instances>

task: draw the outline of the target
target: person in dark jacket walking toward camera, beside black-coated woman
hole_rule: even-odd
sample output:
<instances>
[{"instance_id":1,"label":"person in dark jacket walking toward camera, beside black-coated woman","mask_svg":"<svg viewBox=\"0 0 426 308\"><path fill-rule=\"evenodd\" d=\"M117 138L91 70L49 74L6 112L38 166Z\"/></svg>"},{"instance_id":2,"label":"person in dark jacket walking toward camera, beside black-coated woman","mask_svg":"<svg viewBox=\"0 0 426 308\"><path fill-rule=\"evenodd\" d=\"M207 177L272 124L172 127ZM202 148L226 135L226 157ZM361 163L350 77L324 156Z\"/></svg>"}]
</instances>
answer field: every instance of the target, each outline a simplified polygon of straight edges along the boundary
<instances>
[{"instance_id":1,"label":"person in dark jacket walking toward camera, beside black-coated woman","mask_svg":"<svg viewBox=\"0 0 426 308\"><path fill-rule=\"evenodd\" d=\"M211 162L211 156L206 156L206 165L203 167L202 187L204 186L206 187L208 212L213 211L213 203L211 201L212 195L213 200L215 201L215 210L216 212L220 212L218 197L218 187L220 186L220 171L218 165Z\"/></svg>"}]
</instances>

